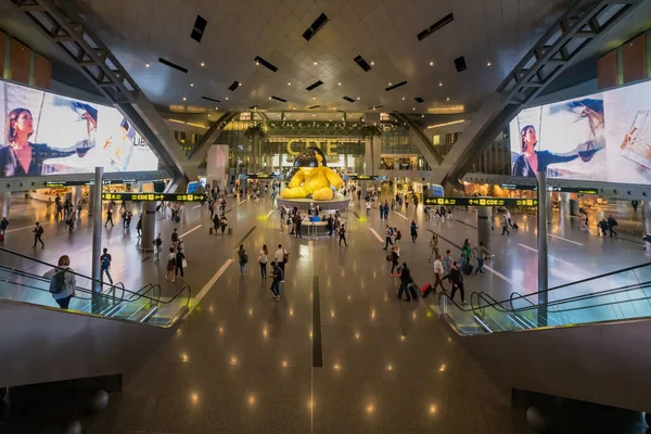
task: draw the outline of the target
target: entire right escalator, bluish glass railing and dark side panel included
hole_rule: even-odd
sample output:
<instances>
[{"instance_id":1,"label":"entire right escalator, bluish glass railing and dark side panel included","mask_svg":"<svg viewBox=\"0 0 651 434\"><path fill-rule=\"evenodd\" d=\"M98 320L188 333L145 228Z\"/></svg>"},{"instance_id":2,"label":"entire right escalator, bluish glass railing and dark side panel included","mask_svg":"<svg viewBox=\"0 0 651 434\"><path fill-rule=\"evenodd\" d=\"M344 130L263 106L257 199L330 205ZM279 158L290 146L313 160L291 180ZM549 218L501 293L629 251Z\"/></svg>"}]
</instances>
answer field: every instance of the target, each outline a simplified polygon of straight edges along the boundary
<instances>
[{"instance_id":1,"label":"entire right escalator, bluish glass railing and dark side panel included","mask_svg":"<svg viewBox=\"0 0 651 434\"><path fill-rule=\"evenodd\" d=\"M485 292L470 299L442 293L442 318L503 392L651 411L651 264L501 302Z\"/></svg>"}]
</instances>

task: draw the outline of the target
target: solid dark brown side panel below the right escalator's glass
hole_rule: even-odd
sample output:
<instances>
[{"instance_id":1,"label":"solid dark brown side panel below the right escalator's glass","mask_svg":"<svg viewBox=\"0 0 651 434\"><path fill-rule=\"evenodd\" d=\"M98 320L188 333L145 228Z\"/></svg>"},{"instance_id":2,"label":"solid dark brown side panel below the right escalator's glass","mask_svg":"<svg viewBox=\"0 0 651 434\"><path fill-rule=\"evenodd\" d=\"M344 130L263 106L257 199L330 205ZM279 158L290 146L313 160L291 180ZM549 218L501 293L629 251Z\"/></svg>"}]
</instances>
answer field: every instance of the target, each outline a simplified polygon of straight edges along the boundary
<instances>
[{"instance_id":1,"label":"solid dark brown side panel below the right escalator's glass","mask_svg":"<svg viewBox=\"0 0 651 434\"><path fill-rule=\"evenodd\" d=\"M651 411L651 320L457 336L498 387Z\"/></svg>"}]
</instances>

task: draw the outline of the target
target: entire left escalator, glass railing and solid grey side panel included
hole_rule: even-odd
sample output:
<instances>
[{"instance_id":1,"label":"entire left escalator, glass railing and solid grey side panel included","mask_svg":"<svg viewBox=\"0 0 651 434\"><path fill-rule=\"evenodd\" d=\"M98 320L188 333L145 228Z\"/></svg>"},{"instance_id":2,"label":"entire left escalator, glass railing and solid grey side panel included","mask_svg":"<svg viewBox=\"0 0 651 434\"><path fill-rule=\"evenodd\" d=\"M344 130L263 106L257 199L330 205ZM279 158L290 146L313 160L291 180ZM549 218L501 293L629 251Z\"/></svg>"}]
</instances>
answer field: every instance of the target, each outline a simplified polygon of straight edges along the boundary
<instances>
[{"instance_id":1,"label":"entire left escalator, glass railing and solid grey side panel included","mask_svg":"<svg viewBox=\"0 0 651 434\"><path fill-rule=\"evenodd\" d=\"M0 261L0 387L119 375L189 311L189 285L163 296L155 283L131 291L78 272L69 309L61 309L42 277L56 267L1 247Z\"/></svg>"}]
</instances>

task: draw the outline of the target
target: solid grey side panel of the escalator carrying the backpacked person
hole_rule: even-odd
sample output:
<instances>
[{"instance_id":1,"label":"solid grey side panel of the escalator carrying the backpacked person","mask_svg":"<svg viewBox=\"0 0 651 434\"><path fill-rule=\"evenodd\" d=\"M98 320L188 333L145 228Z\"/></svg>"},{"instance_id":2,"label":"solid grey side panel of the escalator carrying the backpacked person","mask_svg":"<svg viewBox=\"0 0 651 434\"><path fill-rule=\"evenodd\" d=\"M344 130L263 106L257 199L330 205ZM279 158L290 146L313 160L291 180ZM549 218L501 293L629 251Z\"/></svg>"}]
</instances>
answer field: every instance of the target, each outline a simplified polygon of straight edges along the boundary
<instances>
[{"instance_id":1,"label":"solid grey side panel of the escalator carrying the backpacked person","mask_svg":"<svg viewBox=\"0 0 651 434\"><path fill-rule=\"evenodd\" d=\"M0 386L128 372L177 327L0 299Z\"/></svg>"}]
</instances>

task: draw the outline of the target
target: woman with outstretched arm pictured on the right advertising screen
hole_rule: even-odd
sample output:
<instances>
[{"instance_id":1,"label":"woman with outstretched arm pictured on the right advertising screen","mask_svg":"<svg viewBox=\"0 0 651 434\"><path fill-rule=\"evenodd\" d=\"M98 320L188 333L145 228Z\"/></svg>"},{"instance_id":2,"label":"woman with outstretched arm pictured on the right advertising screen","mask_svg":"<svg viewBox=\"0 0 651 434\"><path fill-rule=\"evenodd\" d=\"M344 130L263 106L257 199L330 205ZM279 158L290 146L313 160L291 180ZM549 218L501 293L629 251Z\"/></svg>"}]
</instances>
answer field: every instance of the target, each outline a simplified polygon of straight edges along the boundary
<instances>
[{"instance_id":1,"label":"woman with outstretched arm pictured on the right advertising screen","mask_svg":"<svg viewBox=\"0 0 651 434\"><path fill-rule=\"evenodd\" d=\"M547 171L547 166L557 163L566 163L578 158L578 152L572 154L552 154L549 151L536 151L538 139L533 125L527 125L520 131L522 154L513 164L513 176L535 178L536 173Z\"/></svg>"}]
</instances>

